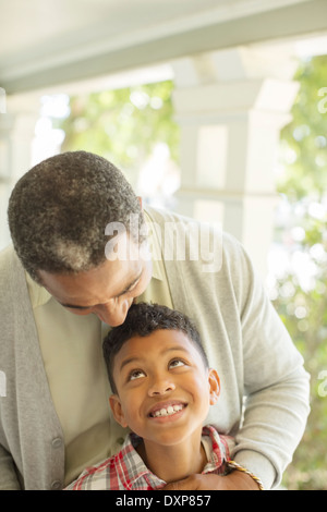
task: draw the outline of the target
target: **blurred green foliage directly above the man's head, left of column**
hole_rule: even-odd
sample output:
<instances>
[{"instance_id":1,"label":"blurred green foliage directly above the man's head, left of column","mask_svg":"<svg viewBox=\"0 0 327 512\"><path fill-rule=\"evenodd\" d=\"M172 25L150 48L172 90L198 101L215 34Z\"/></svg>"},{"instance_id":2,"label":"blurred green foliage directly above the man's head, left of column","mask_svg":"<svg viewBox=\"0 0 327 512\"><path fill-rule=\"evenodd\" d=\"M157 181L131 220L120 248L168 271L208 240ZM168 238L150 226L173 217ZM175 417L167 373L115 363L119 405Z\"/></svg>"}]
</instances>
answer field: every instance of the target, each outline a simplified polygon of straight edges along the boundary
<instances>
[{"instance_id":1,"label":"blurred green foliage directly above the man's head, left of column","mask_svg":"<svg viewBox=\"0 0 327 512\"><path fill-rule=\"evenodd\" d=\"M70 99L62 151L84 149L108 158L134 183L157 143L179 158L179 126L173 120L170 81L104 90Z\"/></svg>"}]
</instances>

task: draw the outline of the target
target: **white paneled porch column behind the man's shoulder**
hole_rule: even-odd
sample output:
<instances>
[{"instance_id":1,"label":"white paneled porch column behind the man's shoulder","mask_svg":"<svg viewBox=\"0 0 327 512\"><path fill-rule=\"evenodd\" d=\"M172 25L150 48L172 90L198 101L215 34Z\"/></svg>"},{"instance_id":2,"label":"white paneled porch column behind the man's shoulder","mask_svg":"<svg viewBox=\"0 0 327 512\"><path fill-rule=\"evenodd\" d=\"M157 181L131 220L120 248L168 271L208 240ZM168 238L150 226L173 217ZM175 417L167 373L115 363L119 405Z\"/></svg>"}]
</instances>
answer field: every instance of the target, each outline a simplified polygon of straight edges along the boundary
<instances>
[{"instance_id":1,"label":"white paneled porch column behind the man's shoulder","mask_svg":"<svg viewBox=\"0 0 327 512\"><path fill-rule=\"evenodd\" d=\"M173 64L181 125L181 214L218 222L265 278L278 199L274 169L290 121L296 62L281 50L237 48Z\"/></svg>"}]
</instances>

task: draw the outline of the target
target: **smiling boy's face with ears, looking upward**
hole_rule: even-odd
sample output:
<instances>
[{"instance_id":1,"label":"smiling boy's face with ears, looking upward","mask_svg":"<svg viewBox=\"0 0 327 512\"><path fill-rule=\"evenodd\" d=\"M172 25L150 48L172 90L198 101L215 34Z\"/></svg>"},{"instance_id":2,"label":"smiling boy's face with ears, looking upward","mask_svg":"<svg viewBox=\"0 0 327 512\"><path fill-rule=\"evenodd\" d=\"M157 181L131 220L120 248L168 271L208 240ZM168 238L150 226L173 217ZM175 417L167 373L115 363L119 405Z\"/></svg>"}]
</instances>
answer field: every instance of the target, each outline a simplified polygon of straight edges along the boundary
<instances>
[{"instance_id":1,"label":"smiling boy's face with ears, looking upward","mask_svg":"<svg viewBox=\"0 0 327 512\"><path fill-rule=\"evenodd\" d=\"M220 391L186 334L157 330L126 341L114 357L118 394L110 397L117 422L142 438L174 444L202 428Z\"/></svg>"}]
</instances>

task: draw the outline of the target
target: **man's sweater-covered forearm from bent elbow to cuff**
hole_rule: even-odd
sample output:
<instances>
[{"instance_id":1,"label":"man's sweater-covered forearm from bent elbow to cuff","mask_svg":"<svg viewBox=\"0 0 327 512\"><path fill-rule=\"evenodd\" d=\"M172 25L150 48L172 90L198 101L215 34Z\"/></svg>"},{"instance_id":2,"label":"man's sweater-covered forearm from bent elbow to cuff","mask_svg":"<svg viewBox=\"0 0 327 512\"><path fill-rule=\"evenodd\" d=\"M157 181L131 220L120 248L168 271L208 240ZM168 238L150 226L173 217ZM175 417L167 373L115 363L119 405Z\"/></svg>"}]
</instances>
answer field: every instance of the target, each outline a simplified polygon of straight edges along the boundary
<instances>
[{"instance_id":1,"label":"man's sweater-covered forearm from bent elbow to cuff","mask_svg":"<svg viewBox=\"0 0 327 512\"><path fill-rule=\"evenodd\" d=\"M288 379L247 397L233 459L256 474L266 488L277 486L304 432L308 377L296 368ZM264 453L264 454L263 454Z\"/></svg>"}]
</instances>

